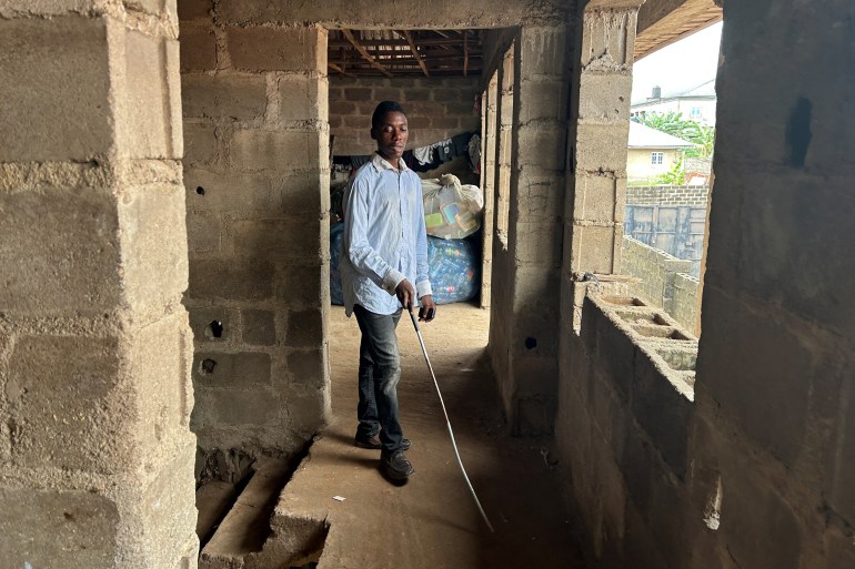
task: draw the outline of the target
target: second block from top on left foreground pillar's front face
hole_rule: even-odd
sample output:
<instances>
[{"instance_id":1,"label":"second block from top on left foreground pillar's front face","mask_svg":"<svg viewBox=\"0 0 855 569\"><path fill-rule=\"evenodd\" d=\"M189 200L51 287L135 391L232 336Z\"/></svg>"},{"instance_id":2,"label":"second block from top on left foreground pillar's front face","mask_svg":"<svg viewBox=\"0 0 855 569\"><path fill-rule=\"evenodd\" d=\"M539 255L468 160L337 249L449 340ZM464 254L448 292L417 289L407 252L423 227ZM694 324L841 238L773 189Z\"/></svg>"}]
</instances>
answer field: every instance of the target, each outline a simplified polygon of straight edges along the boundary
<instances>
[{"instance_id":1,"label":"second block from top on left foreground pillar's front face","mask_svg":"<svg viewBox=\"0 0 855 569\"><path fill-rule=\"evenodd\" d=\"M114 197L97 190L0 194L0 312L95 316L119 304Z\"/></svg>"}]
</instances>

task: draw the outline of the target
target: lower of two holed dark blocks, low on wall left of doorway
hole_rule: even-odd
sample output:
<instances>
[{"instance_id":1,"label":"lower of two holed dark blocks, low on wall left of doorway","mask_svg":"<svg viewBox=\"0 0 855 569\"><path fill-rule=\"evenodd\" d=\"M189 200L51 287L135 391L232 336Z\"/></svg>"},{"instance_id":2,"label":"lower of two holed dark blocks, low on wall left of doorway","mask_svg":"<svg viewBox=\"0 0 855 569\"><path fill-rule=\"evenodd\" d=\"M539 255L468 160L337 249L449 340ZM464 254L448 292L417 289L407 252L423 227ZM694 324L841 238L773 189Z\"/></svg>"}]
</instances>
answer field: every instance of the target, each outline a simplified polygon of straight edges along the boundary
<instances>
[{"instance_id":1,"label":"lower of two holed dark blocks, low on wall left of doorway","mask_svg":"<svg viewBox=\"0 0 855 569\"><path fill-rule=\"evenodd\" d=\"M193 356L193 384L204 393L212 387L254 389L270 385L270 354L198 352Z\"/></svg>"}]
</instances>

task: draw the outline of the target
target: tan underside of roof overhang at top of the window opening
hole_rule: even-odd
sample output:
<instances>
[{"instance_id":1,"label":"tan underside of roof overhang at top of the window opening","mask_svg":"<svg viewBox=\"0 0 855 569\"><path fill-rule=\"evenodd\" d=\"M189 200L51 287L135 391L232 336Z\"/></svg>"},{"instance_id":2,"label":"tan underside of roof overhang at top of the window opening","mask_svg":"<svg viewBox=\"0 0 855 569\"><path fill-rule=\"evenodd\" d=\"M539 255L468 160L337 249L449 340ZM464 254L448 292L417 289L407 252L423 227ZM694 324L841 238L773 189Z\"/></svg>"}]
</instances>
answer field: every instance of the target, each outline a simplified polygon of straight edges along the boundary
<instances>
[{"instance_id":1,"label":"tan underside of roof overhang at top of the window opening","mask_svg":"<svg viewBox=\"0 0 855 569\"><path fill-rule=\"evenodd\" d=\"M716 0L647 0L638 10L635 59L721 20L722 8Z\"/></svg>"}]
</instances>

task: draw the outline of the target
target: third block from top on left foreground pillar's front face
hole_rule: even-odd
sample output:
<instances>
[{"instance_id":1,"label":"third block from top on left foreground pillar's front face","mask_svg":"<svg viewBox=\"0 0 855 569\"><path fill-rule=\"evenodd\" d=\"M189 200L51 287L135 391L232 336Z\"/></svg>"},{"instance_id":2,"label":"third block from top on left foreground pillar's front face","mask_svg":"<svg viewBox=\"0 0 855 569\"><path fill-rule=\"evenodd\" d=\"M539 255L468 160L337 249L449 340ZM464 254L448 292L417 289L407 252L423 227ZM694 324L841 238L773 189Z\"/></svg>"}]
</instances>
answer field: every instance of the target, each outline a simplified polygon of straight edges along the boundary
<instances>
[{"instance_id":1,"label":"third block from top on left foreground pillar's front face","mask_svg":"<svg viewBox=\"0 0 855 569\"><path fill-rule=\"evenodd\" d=\"M123 411L134 402L120 386L119 357L117 338L19 337L6 387L13 461L90 473L134 468L133 415Z\"/></svg>"}]
</instances>

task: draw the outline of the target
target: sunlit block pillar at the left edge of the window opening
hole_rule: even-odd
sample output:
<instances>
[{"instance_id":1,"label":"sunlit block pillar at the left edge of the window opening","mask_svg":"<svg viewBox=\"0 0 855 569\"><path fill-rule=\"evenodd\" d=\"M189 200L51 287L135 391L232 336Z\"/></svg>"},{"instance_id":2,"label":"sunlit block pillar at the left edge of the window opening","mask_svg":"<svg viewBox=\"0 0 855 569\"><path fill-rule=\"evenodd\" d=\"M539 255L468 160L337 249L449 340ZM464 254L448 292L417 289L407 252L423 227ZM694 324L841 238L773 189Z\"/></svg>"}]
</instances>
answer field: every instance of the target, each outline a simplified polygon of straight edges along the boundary
<instances>
[{"instance_id":1,"label":"sunlit block pillar at the left edge of the window opening","mask_svg":"<svg viewBox=\"0 0 855 569\"><path fill-rule=\"evenodd\" d=\"M626 202L632 63L638 2L592 1L577 20L570 175L564 211L563 319L579 329L573 275L618 273ZM617 3L617 2L615 2Z\"/></svg>"}]
</instances>

